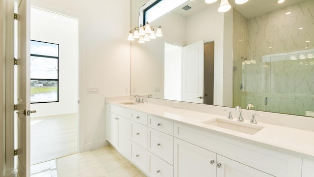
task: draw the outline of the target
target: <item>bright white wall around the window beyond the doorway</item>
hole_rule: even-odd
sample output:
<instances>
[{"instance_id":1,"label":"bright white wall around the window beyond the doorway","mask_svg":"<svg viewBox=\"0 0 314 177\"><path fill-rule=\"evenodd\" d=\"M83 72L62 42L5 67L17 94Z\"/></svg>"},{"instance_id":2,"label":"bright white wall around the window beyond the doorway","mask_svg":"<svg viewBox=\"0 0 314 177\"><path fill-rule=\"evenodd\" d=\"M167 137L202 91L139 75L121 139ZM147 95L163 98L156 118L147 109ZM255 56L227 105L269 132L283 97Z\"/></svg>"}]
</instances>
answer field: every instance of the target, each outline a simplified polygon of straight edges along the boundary
<instances>
[{"instance_id":1,"label":"bright white wall around the window beyond the doorway","mask_svg":"<svg viewBox=\"0 0 314 177\"><path fill-rule=\"evenodd\" d=\"M77 113L78 20L31 7L30 39L59 44L59 101L31 104L31 117Z\"/></svg>"}]
</instances>

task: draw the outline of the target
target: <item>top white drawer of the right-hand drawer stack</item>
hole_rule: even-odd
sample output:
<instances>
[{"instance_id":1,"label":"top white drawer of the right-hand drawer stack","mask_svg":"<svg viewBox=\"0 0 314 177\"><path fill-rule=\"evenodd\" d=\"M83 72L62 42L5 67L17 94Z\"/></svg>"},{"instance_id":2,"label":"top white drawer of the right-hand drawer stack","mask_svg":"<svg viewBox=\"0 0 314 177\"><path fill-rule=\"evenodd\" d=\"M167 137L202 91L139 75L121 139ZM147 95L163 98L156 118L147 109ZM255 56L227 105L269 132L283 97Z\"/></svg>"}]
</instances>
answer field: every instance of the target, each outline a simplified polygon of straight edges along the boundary
<instances>
[{"instance_id":1,"label":"top white drawer of the right-hand drawer stack","mask_svg":"<svg viewBox=\"0 0 314 177\"><path fill-rule=\"evenodd\" d=\"M174 122L171 120L148 116L148 126L173 136Z\"/></svg>"}]
</instances>

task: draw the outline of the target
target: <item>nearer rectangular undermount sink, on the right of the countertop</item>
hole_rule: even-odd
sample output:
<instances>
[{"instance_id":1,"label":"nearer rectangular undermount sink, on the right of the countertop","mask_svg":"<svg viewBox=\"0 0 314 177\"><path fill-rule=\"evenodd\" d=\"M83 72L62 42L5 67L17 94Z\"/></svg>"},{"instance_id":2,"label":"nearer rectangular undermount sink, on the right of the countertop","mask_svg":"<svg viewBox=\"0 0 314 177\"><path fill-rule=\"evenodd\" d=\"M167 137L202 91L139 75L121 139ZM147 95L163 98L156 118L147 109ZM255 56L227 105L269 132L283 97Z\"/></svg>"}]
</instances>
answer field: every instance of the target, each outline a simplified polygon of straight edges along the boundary
<instances>
[{"instance_id":1,"label":"nearer rectangular undermount sink, on the right of the countertop","mask_svg":"<svg viewBox=\"0 0 314 177\"><path fill-rule=\"evenodd\" d=\"M264 127L259 126L259 125L250 125L246 124L243 122L236 122L233 120L228 120L228 119L222 119L222 118L214 118L208 121L204 121L202 123L228 129L228 130L233 130L241 133L246 133L250 135L254 135L255 133L259 132L262 130Z\"/></svg>"}]
</instances>

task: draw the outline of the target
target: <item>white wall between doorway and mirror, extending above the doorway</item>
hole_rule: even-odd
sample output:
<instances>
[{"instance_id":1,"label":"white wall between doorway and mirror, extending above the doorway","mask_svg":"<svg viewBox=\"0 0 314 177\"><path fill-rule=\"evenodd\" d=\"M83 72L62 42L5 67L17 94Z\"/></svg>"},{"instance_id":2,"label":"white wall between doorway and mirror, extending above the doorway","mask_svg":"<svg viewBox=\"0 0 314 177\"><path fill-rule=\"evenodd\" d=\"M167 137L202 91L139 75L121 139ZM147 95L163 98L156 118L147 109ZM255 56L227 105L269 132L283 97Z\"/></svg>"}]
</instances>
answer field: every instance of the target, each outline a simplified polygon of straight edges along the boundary
<instances>
[{"instance_id":1,"label":"white wall between doorway and mirror, extending above the doorway","mask_svg":"<svg viewBox=\"0 0 314 177\"><path fill-rule=\"evenodd\" d=\"M105 96L130 95L130 0L31 2L78 18L79 150L100 148L106 145ZM88 87L99 93L88 94Z\"/></svg>"}]
</instances>

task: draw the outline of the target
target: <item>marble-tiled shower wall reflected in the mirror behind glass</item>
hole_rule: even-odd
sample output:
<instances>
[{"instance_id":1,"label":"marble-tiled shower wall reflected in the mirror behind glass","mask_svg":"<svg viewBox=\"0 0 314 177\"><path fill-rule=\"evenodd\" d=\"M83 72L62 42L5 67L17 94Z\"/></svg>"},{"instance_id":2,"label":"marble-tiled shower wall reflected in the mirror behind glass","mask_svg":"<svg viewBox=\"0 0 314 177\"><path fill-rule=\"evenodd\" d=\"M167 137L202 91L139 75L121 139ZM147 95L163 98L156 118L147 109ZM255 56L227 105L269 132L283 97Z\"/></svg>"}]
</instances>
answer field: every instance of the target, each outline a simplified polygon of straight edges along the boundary
<instances>
[{"instance_id":1,"label":"marble-tiled shower wall reflected in the mirror behind glass","mask_svg":"<svg viewBox=\"0 0 314 177\"><path fill-rule=\"evenodd\" d=\"M303 116L314 111L314 0L246 19L246 26L244 18L234 12L234 105ZM244 31L246 61L236 43Z\"/></svg>"}]
</instances>

